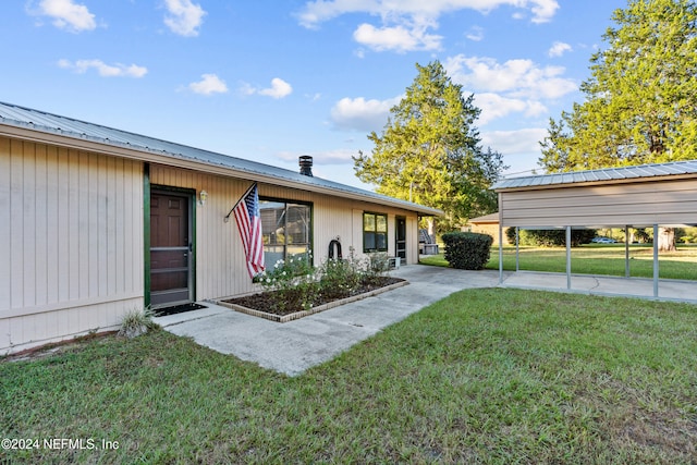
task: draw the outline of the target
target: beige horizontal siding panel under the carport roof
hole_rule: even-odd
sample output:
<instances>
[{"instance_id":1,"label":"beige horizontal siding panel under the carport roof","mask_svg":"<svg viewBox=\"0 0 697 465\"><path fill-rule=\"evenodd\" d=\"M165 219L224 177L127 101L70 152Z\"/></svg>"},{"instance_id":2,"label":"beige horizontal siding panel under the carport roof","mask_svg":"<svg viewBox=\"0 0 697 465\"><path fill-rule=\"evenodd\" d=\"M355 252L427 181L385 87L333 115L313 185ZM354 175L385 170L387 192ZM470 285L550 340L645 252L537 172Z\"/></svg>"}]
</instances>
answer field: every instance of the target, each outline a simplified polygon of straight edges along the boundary
<instances>
[{"instance_id":1,"label":"beige horizontal siding panel under the carport roof","mask_svg":"<svg viewBox=\"0 0 697 465\"><path fill-rule=\"evenodd\" d=\"M502 191L508 227L648 227L697 222L697 179Z\"/></svg>"}]
</instances>

